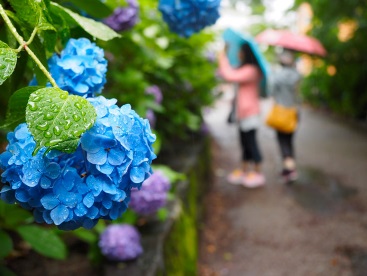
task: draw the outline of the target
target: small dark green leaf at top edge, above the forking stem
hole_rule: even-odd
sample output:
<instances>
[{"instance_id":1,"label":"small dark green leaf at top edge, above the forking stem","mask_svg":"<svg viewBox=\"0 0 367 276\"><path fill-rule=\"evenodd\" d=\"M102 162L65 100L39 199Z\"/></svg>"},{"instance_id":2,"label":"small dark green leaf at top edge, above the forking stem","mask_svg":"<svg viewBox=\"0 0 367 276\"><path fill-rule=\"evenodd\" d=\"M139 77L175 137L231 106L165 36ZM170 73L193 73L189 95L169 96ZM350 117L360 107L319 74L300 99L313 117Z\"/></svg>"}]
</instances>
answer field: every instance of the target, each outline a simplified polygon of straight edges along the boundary
<instances>
[{"instance_id":1,"label":"small dark green leaf at top edge, above the forking stem","mask_svg":"<svg viewBox=\"0 0 367 276\"><path fill-rule=\"evenodd\" d=\"M41 15L41 7L34 0L9 0L15 10L17 17L32 27L35 27Z\"/></svg>"}]
</instances>

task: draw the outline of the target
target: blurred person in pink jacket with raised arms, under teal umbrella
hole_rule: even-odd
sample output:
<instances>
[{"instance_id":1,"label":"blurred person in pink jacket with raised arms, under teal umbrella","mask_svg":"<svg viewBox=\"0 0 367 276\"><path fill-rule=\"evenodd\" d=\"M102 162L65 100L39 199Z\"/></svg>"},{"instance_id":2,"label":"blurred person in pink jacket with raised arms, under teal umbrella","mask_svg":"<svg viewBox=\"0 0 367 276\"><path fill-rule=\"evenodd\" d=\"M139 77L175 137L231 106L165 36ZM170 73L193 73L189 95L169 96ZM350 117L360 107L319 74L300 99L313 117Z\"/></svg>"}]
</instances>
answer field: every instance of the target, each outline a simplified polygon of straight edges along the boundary
<instances>
[{"instance_id":1,"label":"blurred person in pink jacket with raised arms, under teal umbrella","mask_svg":"<svg viewBox=\"0 0 367 276\"><path fill-rule=\"evenodd\" d=\"M242 166L232 171L227 180L232 184L255 188L265 184L261 172L262 155L256 138L256 130L261 122L259 87L263 75L248 44L241 46L239 59L241 65L233 68L224 50L218 60L221 77L227 82L238 84L235 117L242 148Z\"/></svg>"}]
</instances>

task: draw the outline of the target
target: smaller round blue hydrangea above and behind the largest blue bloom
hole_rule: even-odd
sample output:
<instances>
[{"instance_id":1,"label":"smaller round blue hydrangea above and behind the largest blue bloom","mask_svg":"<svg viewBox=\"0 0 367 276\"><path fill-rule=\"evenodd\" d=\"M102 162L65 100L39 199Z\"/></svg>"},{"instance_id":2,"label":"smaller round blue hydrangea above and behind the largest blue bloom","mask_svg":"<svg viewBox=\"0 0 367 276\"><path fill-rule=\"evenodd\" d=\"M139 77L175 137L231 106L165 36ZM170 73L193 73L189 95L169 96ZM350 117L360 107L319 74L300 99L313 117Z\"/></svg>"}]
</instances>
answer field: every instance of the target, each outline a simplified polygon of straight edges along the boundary
<instances>
[{"instance_id":1,"label":"smaller round blue hydrangea above and behind the largest blue bloom","mask_svg":"<svg viewBox=\"0 0 367 276\"><path fill-rule=\"evenodd\" d=\"M87 38L71 38L60 55L48 60L48 67L57 85L70 94L91 97L106 83L104 51ZM30 85L36 85L35 79Z\"/></svg>"}]
</instances>

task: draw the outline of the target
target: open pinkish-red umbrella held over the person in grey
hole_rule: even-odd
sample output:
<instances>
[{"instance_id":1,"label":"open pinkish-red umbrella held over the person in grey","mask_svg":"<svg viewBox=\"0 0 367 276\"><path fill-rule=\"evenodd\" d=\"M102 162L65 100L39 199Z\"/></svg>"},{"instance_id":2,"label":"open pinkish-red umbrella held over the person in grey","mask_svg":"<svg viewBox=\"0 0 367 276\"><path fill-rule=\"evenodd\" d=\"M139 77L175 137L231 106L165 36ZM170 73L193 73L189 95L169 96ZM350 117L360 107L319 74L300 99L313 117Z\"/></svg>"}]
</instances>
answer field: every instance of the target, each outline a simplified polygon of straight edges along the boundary
<instances>
[{"instance_id":1,"label":"open pinkish-red umbrella held over the person in grey","mask_svg":"<svg viewBox=\"0 0 367 276\"><path fill-rule=\"evenodd\" d=\"M264 43L272 46L281 46L286 49L299 51L307 54L325 56L324 46L316 38L311 36L297 34L288 30L268 29L255 37L258 43Z\"/></svg>"}]
</instances>

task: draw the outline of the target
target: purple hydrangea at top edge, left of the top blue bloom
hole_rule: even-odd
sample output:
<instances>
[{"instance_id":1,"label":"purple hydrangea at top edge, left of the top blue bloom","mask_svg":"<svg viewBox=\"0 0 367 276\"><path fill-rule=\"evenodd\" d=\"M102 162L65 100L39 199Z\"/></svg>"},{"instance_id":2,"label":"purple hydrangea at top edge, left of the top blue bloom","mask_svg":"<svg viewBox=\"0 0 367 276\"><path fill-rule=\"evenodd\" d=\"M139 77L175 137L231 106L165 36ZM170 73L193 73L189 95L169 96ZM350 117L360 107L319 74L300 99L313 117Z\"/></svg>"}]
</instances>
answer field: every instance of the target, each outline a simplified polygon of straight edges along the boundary
<instances>
[{"instance_id":1,"label":"purple hydrangea at top edge, left of the top blue bloom","mask_svg":"<svg viewBox=\"0 0 367 276\"><path fill-rule=\"evenodd\" d=\"M127 7L118 7L113 14L103 20L107 26L116 32L129 30L138 22L139 5L136 0L127 0Z\"/></svg>"}]
</instances>

